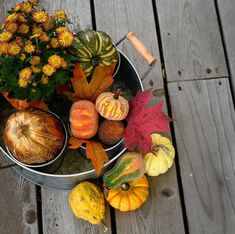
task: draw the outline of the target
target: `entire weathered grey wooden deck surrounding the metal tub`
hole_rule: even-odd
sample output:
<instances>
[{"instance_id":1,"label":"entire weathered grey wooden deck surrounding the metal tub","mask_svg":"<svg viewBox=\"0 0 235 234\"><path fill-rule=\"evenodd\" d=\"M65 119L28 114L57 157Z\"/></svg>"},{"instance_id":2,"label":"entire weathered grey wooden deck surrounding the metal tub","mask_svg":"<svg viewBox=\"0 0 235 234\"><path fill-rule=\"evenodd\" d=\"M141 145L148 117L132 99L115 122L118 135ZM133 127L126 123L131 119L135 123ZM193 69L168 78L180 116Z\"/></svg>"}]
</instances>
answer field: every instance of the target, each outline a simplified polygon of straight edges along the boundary
<instances>
[{"instance_id":1,"label":"entire weathered grey wooden deck surrounding the metal tub","mask_svg":"<svg viewBox=\"0 0 235 234\"><path fill-rule=\"evenodd\" d=\"M1 22L15 2L0 1ZM153 87L155 101L165 100L175 119L175 165L150 179L141 209L107 206L108 233L235 233L235 1L43 0L41 6L63 8L74 31L106 31L114 42L133 31L158 58L144 87ZM139 73L146 69L128 42L120 50ZM0 171L0 187L1 234L103 233L72 215L69 191L40 188L12 169Z\"/></svg>"}]
</instances>

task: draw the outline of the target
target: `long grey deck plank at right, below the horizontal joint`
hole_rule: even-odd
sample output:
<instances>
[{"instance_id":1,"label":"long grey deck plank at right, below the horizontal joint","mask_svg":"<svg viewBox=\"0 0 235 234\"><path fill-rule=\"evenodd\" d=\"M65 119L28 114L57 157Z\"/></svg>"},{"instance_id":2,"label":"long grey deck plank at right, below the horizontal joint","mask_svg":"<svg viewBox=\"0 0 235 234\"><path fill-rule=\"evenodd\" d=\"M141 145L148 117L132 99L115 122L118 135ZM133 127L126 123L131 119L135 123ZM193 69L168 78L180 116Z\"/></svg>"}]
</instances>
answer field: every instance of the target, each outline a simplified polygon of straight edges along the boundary
<instances>
[{"instance_id":1,"label":"long grey deck plank at right, below the horizontal joint","mask_svg":"<svg viewBox=\"0 0 235 234\"><path fill-rule=\"evenodd\" d=\"M168 84L190 233L234 233L235 113L228 79Z\"/></svg>"}]
</instances>

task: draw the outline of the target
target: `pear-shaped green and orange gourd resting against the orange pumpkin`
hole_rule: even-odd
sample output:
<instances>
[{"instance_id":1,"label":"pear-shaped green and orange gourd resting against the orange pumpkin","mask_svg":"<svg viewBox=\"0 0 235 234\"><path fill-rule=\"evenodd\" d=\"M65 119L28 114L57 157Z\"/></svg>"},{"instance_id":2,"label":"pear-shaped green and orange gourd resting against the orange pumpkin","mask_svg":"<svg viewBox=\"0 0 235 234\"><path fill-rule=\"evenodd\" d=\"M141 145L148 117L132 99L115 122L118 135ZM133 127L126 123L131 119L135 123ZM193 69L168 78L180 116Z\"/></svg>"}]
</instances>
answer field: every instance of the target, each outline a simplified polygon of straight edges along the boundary
<instances>
[{"instance_id":1,"label":"pear-shaped green and orange gourd resting against the orange pumpkin","mask_svg":"<svg viewBox=\"0 0 235 234\"><path fill-rule=\"evenodd\" d=\"M145 162L142 155L135 152L123 154L115 166L103 176L107 188L117 188L121 184L136 180L145 173Z\"/></svg>"}]
</instances>

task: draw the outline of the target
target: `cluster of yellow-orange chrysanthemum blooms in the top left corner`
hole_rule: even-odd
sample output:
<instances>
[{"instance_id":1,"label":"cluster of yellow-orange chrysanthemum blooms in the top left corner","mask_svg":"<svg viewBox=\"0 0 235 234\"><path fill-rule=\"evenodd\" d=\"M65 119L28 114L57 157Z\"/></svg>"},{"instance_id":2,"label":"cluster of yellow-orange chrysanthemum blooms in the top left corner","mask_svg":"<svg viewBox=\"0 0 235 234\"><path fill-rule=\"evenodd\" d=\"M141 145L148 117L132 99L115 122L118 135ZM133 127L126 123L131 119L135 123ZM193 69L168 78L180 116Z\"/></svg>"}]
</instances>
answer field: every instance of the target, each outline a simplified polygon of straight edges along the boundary
<instances>
[{"instance_id":1,"label":"cluster of yellow-orange chrysanthemum blooms in the top left corner","mask_svg":"<svg viewBox=\"0 0 235 234\"><path fill-rule=\"evenodd\" d=\"M21 88L33 82L34 86L45 85L57 69L67 69L62 51L74 40L65 26L68 19L64 10L49 16L37 10L37 5L38 0L28 0L15 6L0 31L0 56L14 56L23 64L18 79Z\"/></svg>"}]
</instances>

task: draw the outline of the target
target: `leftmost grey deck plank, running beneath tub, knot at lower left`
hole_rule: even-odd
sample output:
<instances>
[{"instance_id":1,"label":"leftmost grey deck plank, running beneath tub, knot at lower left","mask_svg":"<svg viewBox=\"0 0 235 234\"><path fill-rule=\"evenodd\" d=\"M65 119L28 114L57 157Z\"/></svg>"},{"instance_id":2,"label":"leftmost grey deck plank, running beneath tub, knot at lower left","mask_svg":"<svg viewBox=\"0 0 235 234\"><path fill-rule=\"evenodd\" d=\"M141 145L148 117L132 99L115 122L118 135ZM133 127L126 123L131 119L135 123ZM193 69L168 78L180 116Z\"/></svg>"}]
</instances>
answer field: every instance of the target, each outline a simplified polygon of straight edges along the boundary
<instances>
[{"instance_id":1,"label":"leftmost grey deck plank, running beneath tub, knot at lower left","mask_svg":"<svg viewBox=\"0 0 235 234\"><path fill-rule=\"evenodd\" d=\"M1 23L6 17L7 10L11 9L16 2L19 1L1 1ZM6 164L2 154L0 155L0 163ZM38 233L36 186L9 168L0 172L0 187L1 233Z\"/></svg>"}]
</instances>

